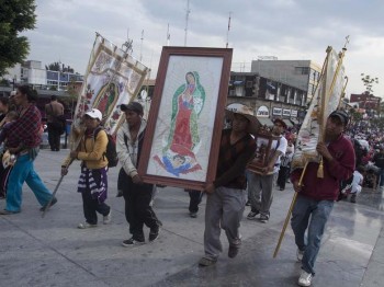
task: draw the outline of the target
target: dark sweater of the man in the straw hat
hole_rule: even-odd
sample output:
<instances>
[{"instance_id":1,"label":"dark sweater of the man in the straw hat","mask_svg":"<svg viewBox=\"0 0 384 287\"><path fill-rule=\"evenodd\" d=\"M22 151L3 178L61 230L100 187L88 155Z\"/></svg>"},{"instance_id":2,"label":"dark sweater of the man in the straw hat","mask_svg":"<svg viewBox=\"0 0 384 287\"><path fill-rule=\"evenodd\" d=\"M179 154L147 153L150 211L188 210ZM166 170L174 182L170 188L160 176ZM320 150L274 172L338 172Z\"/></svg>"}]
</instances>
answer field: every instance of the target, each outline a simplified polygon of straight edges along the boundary
<instances>
[{"instance_id":1,"label":"dark sweater of the man in the straw hat","mask_svg":"<svg viewBox=\"0 0 384 287\"><path fill-rule=\"evenodd\" d=\"M215 187L225 186L237 190L247 187L246 167L256 151L256 142L246 135L234 145L230 144L231 129L222 134L221 150L217 162Z\"/></svg>"}]
</instances>

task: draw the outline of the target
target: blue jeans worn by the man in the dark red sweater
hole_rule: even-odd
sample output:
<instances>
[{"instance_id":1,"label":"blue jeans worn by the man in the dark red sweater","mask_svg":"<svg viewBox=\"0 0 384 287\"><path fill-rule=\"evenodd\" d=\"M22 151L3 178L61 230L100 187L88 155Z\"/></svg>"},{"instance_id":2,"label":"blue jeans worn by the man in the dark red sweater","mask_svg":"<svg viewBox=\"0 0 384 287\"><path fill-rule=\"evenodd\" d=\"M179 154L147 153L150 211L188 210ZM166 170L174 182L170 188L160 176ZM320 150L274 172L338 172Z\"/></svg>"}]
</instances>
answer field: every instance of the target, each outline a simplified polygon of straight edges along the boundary
<instances>
[{"instance_id":1,"label":"blue jeans worn by the man in the dark red sweater","mask_svg":"<svg viewBox=\"0 0 384 287\"><path fill-rule=\"evenodd\" d=\"M302 268L315 275L315 262L320 250L320 241L332 210L332 200L314 200L298 194L292 210L291 226L295 234L295 243L304 251ZM310 218L310 221L309 221ZM305 237L305 231L307 236Z\"/></svg>"}]
</instances>

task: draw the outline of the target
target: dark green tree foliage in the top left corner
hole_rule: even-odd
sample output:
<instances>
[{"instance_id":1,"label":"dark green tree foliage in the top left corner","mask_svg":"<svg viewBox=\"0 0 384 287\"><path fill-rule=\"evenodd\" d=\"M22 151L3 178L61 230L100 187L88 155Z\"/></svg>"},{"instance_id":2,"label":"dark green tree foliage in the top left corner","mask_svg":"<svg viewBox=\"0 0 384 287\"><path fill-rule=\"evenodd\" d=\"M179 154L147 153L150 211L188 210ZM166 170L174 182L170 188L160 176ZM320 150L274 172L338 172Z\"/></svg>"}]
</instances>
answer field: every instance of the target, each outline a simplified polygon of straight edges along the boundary
<instances>
[{"instance_id":1,"label":"dark green tree foliage in the top left corner","mask_svg":"<svg viewBox=\"0 0 384 287\"><path fill-rule=\"evenodd\" d=\"M29 55L30 44L19 34L36 23L34 0L0 0L0 77Z\"/></svg>"}]
</instances>

